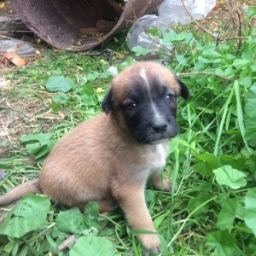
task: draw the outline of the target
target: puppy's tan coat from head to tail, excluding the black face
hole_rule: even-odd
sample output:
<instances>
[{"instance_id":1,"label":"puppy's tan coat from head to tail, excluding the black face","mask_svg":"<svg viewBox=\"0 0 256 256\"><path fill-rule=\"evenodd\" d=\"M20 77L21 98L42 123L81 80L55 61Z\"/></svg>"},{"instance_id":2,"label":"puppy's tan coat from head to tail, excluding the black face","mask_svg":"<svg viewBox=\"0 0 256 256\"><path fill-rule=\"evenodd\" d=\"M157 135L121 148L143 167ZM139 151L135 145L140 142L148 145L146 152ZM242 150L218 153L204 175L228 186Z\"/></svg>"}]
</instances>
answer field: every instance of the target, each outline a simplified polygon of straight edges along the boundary
<instances>
[{"instance_id":1,"label":"puppy's tan coat from head to tail, excluding the black face","mask_svg":"<svg viewBox=\"0 0 256 256\"><path fill-rule=\"evenodd\" d=\"M126 88L132 80L143 84L139 73L142 68L148 80L165 79L179 95L177 81L166 68L150 62L126 68L111 85L115 91L113 111L85 121L62 137L44 161L39 184L44 195L57 203L83 211L89 201L96 201L101 212L111 211L119 205L133 229L155 231L145 203L144 188L148 177L152 177L156 189L170 190L170 182L160 177L168 143L137 143L117 107L124 102ZM0 204L26 193L39 192L35 189L38 181L27 184L3 195ZM138 238L144 247L160 252L158 236L138 235Z\"/></svg>"}]
</instances>

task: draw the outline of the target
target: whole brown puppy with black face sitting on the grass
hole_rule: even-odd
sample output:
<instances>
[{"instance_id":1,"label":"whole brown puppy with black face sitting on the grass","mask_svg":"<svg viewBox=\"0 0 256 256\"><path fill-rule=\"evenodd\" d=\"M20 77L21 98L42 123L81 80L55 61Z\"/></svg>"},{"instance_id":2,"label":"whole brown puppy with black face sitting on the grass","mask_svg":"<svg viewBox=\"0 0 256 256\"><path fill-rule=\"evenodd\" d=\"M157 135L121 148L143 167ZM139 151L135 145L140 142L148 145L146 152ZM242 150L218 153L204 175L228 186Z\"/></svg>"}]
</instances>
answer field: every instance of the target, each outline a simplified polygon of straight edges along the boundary
<instances>
[{"instance_id":1,"label":"whole brown puppy with black face sitting on the grass","mask_svg":"<svg viewBox=\"0 0 256 256\"><path fill-rule=\"evenodd\" d=\"M155 231L144 199L148 177L161 182L169 140L177 135L177 96L189 90L168 69L141 62L113 79L102 108L105 113L62 137L44 161L39 180L21 184L0 197L0 204L27 193L43 192L55 202L81 211L96 201L100 211L118 205L133 229ZM159 253L156 235L138 235L143 246Z\"/></svg>"}]
</instances>

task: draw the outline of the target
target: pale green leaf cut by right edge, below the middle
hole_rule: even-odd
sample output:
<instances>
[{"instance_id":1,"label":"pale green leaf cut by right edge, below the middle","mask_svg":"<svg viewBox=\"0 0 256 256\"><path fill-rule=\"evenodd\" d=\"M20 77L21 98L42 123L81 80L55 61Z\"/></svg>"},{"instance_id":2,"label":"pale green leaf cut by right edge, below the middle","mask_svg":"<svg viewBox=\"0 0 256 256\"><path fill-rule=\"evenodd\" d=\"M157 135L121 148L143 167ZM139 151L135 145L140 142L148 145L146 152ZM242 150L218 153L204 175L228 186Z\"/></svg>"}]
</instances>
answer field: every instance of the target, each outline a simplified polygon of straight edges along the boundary
<instances>
[{"instance_id":1,"label":"pale green leaf cut by right edge, below the middle","mask_svg":"<svg viewBox=\"0 0 256 256\"><path fill-rule=\"evenodd\" d=\"M256 188L250 189L245 196L244 219L248 228L256 236Z\"/></svg>"}]
</instances>

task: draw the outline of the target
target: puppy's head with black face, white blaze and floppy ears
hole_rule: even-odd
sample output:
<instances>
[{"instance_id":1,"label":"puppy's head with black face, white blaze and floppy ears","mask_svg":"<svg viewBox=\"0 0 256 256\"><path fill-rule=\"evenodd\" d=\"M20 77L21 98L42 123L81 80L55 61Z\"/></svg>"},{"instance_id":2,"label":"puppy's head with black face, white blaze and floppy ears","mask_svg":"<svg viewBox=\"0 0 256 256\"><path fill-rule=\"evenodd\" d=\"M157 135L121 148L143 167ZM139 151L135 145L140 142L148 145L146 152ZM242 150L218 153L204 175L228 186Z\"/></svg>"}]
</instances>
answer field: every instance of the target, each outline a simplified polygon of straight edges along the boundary
<instances>
[{"instance_id":1,"label":"puppy's head with black face, white blaze and floppy ears","mask_svg":"<svg viewBox=\"0 0 256 256\"><path fill-rule=\"evenodd\" d=\"M163 143L177 135L178 96L189 90L166 67L139 62L113 79L102 108L138 143Z\"/></svg>"}]
</instances>

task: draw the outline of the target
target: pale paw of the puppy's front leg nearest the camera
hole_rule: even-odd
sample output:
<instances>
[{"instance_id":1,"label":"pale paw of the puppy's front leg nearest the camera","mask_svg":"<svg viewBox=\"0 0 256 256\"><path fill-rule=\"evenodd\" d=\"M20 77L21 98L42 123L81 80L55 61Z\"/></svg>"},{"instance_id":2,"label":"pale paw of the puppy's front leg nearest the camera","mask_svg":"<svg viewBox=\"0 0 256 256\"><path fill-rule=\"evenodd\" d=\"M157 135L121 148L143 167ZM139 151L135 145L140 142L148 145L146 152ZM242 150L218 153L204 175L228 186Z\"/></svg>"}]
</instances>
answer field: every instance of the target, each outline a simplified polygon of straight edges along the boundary
<instances>
[{"instance_id":1,"label":"pale paw of the puppy's front leg nearest the camera","mask_svg":"<svg viewBox=\"0 0 256 256\"><path fill-rule=\"evenodd\" d=\"M162 251L159 237L151 234L138 235L138 239L143 243L143 255L148 256L150 252L158 254Z\"/></svg>"}]
</instances>

